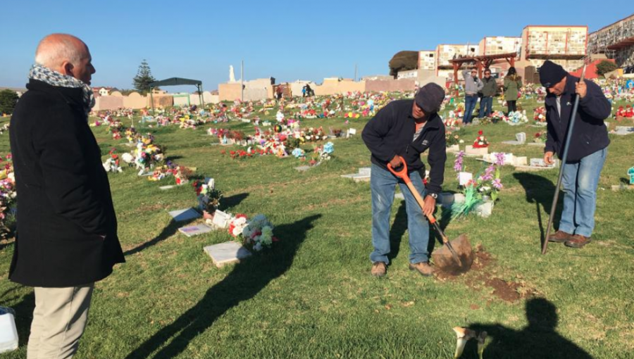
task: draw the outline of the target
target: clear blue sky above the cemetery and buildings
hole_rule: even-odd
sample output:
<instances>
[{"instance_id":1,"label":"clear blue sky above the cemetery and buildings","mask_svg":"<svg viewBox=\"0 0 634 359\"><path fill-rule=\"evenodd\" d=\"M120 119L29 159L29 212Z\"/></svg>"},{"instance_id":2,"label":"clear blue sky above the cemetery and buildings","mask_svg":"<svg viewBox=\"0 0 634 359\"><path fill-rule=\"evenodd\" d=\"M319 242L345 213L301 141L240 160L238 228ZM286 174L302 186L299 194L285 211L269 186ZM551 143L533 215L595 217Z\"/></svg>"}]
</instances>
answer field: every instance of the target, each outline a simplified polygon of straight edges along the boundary
<instances>
[{"instance_id":1,"label":"clear blue sky above the cemetery and buildings","mask_svg":"<svg viewBox=\"0 0 634 359\"><path fill-rule=\"evenodd\" d=\"M217 89L229 65L240 78L241 60L246 80L321 82L354 77L355 63L359 76L387 74L401 50L520 36L526 25L592 32L632 13L633 0L0 0L0 87L24 86L37 43L52 32L88 44L94 86L132 88L145 58L157 80Z\"/></svg>"}]
</instances>

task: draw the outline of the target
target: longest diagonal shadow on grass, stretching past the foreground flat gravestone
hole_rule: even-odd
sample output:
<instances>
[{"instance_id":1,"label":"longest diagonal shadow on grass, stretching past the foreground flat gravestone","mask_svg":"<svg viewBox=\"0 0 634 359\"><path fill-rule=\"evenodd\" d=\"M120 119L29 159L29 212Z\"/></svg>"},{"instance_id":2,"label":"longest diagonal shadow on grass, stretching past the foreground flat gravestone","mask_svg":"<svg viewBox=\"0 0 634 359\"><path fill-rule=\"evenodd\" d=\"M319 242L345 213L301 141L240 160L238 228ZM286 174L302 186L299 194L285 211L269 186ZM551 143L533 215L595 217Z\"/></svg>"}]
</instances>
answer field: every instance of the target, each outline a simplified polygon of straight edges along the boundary
<instances>
[{"instance_id":1,"label":"longest diagonal shadow on grass, stretching past the foreground flat gravestone","mask_svg":"<svg viewBox=\"0 0 634 359\"><path fill-rule=\"evenodd\" d=\"M237 263L227 277L207 290L195 306L125 358L149 358L159 348L153 358L173 358L182 353L189 342L211 327L218 317L242 301L253 298L273 279L284 275L306 239L306 234L313 227L313 222L319 218L321 215L311 215L290 225L275 227L275 235L280 241L269 253L256 253Z\"/></svg>"}]
</instances>

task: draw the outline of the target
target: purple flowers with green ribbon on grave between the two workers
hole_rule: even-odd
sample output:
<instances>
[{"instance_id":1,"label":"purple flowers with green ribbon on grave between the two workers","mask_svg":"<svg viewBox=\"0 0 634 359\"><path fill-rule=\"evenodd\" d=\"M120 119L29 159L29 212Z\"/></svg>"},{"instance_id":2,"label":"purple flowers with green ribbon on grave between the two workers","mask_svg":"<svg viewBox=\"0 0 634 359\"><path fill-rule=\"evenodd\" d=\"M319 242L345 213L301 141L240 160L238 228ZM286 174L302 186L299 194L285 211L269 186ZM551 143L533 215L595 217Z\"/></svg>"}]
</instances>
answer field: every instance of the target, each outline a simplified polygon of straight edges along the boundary
<instances>
[{"instance_id":1,"label":"purple flowers with green ribbon on grave between the two workers","mask_svg":"<svg viewBox=\"0 0 634 359\"><path fill-rule=\"evenodd\" d=\"M500 180L499 166L504 165L504 153L497 153L495 163L487 166L484 172L477 176L477 180L468 180L461 186L461 194L464 195L464 202L452 205L452 218L461 218L471 213L475 208L487 199L495 203L502 190L502 180ZM464 172L464 151L460 151L454 162L454 170L463 175ZM471 177L471 174L468 174Z\"/></svg>"}]
</instances>

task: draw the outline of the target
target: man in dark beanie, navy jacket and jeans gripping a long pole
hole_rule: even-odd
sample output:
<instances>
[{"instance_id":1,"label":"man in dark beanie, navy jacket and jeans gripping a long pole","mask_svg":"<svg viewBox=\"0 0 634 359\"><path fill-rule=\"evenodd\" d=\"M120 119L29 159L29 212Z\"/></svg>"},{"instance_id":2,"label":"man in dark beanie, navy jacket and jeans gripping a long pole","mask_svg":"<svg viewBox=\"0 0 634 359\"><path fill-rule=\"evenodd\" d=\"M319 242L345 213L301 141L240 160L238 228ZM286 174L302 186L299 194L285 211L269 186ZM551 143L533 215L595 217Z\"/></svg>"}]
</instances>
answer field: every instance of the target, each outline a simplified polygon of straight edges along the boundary
<instances>
[{"instance_id":1,"label":"man in dark beanie, navy jacket and jeans gripping a long pole","mask_svg":"<svg viewBox=\"0 0 634 359\"><path fill-rule=\"evenodd\" d=\"M604 122L611 113L609 101L594 82L578 81L578 77L552 61L546 61L540 68L540 82L548 91L545 163L554 162L554 153L559 158L564 153L572 103L575 96L580 97L568 158L563 164L564 211L559 230L548 238L572 248L581 248L591 241L599 175L610 144Z\"/></svg>"}]
</instances>

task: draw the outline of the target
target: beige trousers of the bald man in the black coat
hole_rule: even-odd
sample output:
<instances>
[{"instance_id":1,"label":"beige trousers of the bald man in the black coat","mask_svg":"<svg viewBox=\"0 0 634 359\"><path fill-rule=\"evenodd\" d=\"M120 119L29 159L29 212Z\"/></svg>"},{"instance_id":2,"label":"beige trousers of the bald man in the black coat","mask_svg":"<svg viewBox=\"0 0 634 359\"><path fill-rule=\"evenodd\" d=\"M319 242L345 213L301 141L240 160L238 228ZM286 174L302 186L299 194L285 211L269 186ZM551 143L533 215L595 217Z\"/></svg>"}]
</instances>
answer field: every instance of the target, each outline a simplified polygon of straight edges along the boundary
<instances>
[{"instance_id":1,"label":"beige trousers of the bald man in the black coat","mask_svg":"<svg viewBox=\"0 0 634 359\"><path fill-rule=\"evenodd\" d=\"M88 320L93 284L35 287L35 310L27 359L73 358Z\"/></svg>"}]
</instances>

